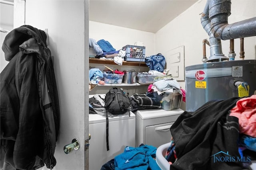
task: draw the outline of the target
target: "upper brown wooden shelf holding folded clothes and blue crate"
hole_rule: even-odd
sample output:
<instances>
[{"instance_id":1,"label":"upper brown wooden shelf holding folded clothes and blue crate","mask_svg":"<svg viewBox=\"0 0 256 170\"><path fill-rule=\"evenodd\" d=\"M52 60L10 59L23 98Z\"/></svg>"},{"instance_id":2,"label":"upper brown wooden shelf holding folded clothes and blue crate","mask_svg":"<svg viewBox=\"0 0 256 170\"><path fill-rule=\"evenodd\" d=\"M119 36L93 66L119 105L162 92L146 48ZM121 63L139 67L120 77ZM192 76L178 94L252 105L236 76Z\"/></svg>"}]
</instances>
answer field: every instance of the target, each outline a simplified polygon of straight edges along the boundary
<instances>
[{"instance_id":1,"label":"upper brown wooden shelf holding folded clothes and blue crate","mask_svg":"<svg viewBox=\"0 0 256 170\"><path fill-rule=\"evenodd\" d=\"M96 58L89 58L89 63L95 63L95 64L116 64L112 60L105 60L105 59L96 59ZM123 61L122 65L126 66L143 66L146 67L145 62L136 62L136 61Z\"/></svg>"}]
</instances>

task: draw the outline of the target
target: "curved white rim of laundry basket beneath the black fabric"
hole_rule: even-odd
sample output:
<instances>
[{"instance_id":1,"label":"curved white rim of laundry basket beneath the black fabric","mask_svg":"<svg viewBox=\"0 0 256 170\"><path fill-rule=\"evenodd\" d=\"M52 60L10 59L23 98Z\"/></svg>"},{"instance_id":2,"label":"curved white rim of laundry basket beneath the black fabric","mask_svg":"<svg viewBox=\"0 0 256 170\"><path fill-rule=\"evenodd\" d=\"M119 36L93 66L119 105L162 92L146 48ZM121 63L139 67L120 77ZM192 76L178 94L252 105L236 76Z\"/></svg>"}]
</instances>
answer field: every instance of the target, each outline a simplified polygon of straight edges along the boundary
<instances>
[{"instance_id":1,"label":"curved white rim of laundry basket beneath the black fabric","mask_svg":"<svg viewBox=\"0 0 256 170\"><path fill-rule=\"evenodd\" d=\"M170 147L170 145L171 142L163 144L156 149L156 163L161 168L161 170L170 170L170 164L164 157L166 150Z\"/></svg>"}]
</instances>

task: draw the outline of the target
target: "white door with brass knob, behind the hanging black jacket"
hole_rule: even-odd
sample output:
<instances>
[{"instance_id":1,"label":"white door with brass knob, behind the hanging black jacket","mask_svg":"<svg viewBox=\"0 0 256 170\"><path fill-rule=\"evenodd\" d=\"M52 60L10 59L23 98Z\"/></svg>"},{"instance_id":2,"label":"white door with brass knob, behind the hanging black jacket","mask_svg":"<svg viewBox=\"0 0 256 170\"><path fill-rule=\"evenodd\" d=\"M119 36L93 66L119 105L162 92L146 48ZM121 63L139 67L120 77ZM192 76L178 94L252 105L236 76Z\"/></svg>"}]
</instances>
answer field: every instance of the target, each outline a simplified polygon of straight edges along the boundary
<instances>
[{"instance_id":1,"label":"white door with brass knob, behind the hanging black jacket","mask_svg":"<svg viewBox=\"0 0 256 170\"><path fill-rule=\"evenodd\" d=\"M14 28L20 23L48 32L60 100L54 170L88 170L88 0L14 0ZM80 149L65 154L64 146L74 138Z\"/></svg>"}]
</instances>

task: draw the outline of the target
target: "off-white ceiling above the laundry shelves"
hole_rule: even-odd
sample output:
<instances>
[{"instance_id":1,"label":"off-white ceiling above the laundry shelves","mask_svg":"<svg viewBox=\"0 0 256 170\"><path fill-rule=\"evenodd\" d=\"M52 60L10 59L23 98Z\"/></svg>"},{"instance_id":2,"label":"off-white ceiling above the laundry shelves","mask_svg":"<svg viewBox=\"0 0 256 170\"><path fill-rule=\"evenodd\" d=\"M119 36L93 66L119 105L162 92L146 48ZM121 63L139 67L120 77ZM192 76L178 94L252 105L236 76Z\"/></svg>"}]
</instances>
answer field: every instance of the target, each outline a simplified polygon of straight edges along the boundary
<instances>
[{"instance_id":1,"label":"off-white ceiling above the laundry shelves","mask_svg":"<svg viewBox=\"0 0 256 170\"><path fill-rule=\"evenodd\" d=\"M90 0L89 20L155 33L197 0Z\"/></svg>"}]
</instances>

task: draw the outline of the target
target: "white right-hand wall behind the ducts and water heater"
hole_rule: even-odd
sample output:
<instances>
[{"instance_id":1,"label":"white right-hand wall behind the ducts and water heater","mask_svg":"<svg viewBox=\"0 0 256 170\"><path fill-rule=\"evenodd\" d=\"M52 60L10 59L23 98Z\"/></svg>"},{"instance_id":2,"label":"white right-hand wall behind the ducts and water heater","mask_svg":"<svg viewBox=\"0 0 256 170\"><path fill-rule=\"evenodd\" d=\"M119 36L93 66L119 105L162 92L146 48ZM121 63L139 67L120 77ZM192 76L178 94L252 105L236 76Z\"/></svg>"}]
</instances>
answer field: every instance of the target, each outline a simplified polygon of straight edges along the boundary
<instances>
[{"instance_id":1,"label":"white right-hand wall behind the ducts and water heater","mask_svg":"<svg viewBox=\"0 0 256 170\"><path fill-rule=\"evenodd\" d=\"M156 51L166 52L184 45L185 67L202 63L202 40L209 39L208 34L201 25L201 13L206 0L199 0L180 16L172 20L156 33ZM256 16L255 0L232 0L229 23L238 22ZM228 56L230 41L222 41L222 51ZM236 60L239 60L240 39L234 40ZM244 38L245 59L256 59L256 37ZM210 49L206 45L206 56L210 56ZM180 82L185 89L185 82Z\"/></svg>"}]
</instances>

